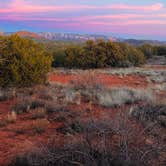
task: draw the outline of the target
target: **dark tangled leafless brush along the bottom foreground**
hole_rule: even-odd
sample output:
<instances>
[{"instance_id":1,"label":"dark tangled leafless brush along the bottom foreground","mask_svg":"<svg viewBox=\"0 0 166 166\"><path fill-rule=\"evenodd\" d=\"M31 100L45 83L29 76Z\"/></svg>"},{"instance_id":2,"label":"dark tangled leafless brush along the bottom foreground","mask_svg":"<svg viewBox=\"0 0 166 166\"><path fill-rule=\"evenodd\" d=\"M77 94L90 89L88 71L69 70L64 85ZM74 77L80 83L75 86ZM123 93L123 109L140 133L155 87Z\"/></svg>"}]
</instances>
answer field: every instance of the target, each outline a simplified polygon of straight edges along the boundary
<instances>
[{"instance_id":1,"label":"dark tangled leafless brush along the bottom foreground","mask_svg":"<svg viewBox=\"0 0 166 166\"><path fill-rule=\"evenodd\" d=\"M139 135L142 128L131 125L126 111L117 114L113 121L103 119L87 124L90 125L79 141L68 136L61 147L52 142L37 146L38 150L17 155L10 166L150 166L155 155L164 150L145 146L144 136Z\"/></svg>"}]
</instances>

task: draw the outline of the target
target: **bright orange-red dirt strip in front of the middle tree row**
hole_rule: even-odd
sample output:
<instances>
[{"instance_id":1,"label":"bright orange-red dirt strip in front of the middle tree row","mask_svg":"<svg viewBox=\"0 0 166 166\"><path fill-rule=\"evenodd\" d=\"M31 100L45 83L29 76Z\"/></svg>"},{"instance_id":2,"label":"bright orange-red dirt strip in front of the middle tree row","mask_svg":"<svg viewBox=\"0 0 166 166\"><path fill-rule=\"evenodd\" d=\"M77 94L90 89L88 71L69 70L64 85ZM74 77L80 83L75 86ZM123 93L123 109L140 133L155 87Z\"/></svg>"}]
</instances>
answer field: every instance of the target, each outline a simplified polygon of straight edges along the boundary
<instances>
[{"instance_id":1,"label":"bright orange-red dirt strip in front of the middle tree row","mask_svg":"<svg viewBox=\"0 0 166 166\"><path fill-rule=\"evenodd\" d=\"M60 84L70 84L71 81L76 81L78 79L77 75L65 75L65 74L52 74L48 77L50 82L60 83ZM107 87L140 87L145 88L148 85L146 77L136 76L136 75L108 75L108 74L98 74L98 80L100 83Z\"/></svg>"}]
</instances>

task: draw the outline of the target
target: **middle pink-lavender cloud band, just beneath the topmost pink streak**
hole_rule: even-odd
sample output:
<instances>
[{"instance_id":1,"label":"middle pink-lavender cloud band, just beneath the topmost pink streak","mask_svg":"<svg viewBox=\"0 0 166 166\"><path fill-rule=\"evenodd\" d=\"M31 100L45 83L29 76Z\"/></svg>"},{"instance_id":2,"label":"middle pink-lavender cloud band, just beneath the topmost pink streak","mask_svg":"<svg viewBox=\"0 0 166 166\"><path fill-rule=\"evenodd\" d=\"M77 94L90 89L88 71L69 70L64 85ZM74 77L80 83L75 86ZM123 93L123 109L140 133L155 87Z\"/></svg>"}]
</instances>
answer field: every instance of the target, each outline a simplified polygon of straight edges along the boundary
<instances>
[{"instance_id":1,"label":"middle pink-lavender cloud band, just beneath the topmost pink streak","mask_svg":"<svg viewBox=\"0 0 166 166\"><path fill-rule=\"evenodd\" d=\"M112 22L121 24L166 24L162 19L166 18L166 14L112 14L112 15L96 15L96 16L80 16L80 17L38 17L23 14L1 15L0 19L16 20L16 21L53 21L53 22L91 22L91 23L107 23ZM102 20L102 21L101 21Z\"/></svg>"}]
</instances>

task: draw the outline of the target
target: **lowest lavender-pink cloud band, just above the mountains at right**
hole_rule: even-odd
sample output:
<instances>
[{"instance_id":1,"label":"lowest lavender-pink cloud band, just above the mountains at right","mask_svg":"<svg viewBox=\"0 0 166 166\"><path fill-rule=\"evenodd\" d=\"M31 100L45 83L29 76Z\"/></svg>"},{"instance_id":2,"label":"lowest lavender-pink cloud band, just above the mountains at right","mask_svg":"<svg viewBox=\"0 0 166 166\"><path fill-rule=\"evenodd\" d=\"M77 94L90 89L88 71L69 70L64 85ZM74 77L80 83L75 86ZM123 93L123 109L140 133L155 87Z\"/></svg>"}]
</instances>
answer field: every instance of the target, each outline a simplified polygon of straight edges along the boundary
<instances>
[{"instance_id":1,"label":"lowest lavender-pink cloud band, just above the mountains at right","mask_svg":"<svg viewBox=\"0 0 166 166\"><path fill-rule=\"evenodd\" d=\"M60 28L66 30L82 30L88 32L114 32L114 33L125 33L125 34L140 34L140 35L157 35L157 36L165 36L165 26L158 25L116 25L112 24L108 26L108 24L98 24L96 29L96 24L93 23L60 23L60 24L41 24L41 26L46 28ZM143 28L144 27L144 28Z\"/></svg>"}]
</instances>

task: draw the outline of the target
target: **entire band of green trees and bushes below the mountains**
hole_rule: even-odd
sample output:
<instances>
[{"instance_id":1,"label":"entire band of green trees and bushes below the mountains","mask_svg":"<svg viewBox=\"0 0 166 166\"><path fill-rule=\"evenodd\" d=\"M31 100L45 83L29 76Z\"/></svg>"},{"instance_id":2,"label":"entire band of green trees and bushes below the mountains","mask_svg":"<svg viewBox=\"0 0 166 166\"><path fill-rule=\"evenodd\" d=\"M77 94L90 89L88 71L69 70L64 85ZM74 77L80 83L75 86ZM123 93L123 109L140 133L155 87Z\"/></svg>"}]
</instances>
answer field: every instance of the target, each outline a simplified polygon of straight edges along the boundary
<instances>
[{"instance_id":1,"label":"entire band of green trees and bushes below the mountains","mask_svg":"<svg viewBox=\"0 0 166 166\"><path fill-rule=\"evenodd\" d=\"M130 67L144 64L153 55L166 55L166 46L134 47L104 40L84 44L39 43L17 35L0 37L0 86L44 83L51 64L83 69Z\"/></svg>"}]
</instances>

